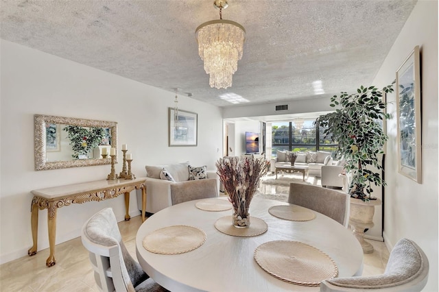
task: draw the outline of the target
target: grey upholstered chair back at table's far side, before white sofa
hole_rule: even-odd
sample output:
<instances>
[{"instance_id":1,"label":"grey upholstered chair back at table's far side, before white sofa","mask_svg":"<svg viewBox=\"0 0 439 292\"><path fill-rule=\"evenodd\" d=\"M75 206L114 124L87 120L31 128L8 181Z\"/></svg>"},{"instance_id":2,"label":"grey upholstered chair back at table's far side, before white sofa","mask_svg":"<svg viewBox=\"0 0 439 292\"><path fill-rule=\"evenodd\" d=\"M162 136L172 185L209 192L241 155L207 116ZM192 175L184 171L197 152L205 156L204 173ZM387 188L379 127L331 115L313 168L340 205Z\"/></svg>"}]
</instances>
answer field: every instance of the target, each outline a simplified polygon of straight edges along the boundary
<instances>
[{"instance_id":1,"label":"grey upholstered chair back at table's far side, before white sofa","mask_svg":"<svg viewBox=\"0 0 439 292\"><path fill-rule=\"evenodd\" d=\"M208 197L218 197L217 180L214 178L171 184L172 205Z\"/></svg>"}]
</instances>

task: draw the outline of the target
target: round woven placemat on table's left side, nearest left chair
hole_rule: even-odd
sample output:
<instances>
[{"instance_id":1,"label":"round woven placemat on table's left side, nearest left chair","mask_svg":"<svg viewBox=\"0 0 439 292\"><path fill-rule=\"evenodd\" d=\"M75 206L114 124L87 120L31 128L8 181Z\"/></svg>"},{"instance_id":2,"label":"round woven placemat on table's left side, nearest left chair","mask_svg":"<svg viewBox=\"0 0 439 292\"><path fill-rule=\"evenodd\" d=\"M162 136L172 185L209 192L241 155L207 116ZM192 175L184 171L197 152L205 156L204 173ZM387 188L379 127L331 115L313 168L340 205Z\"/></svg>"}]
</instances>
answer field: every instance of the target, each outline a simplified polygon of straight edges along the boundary
<instances>
[{"instance_id":1,"label":"round woven placemat on table's left side, nearest left chair","mask_svg":"<svg viewBox=\"0 0 439 292\"><path fill-rule=\"evenodd\" d=\"M192 226L176 225L147 234L142 245L154 254L183 254L200 247L206 241L206 233Z\"/></svg>"}]
</instances>

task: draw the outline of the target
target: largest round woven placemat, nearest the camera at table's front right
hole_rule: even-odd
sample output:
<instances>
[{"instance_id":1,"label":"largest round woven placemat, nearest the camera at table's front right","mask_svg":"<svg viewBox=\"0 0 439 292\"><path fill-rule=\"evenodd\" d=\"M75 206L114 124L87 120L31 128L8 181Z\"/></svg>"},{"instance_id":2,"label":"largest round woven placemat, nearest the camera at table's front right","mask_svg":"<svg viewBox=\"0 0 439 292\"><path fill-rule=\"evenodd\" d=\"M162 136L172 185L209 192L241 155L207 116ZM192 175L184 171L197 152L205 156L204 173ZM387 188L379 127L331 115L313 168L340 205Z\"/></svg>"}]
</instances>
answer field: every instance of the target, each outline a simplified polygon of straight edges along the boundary
<instances>
[{"instance_id":1,"label":"largest round woven placemat, nearest the camera at table's front right","mask_svg":"<svg viewBox=\"0 0 439 292\"><path fill-rule=\"evenodd\" d=\"M298 241L263 243L254 251L254 260L270 275L303 286L318 286L338 274L332 258Z\"/></svg>"}]
</instances>

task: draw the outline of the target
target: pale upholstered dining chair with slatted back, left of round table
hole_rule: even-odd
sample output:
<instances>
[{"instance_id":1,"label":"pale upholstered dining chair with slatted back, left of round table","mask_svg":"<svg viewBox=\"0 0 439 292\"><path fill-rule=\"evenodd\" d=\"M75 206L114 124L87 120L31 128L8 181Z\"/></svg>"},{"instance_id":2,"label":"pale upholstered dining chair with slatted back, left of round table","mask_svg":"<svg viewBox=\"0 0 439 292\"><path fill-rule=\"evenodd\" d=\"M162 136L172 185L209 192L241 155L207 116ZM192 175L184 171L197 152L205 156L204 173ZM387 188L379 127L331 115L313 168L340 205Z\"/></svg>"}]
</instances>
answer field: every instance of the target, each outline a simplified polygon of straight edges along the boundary
<instances>
[{"instance_id":1,"label":"pale upholstered dining chair with slatted back, left of round table","mask_svg":"<svg viewBox=\"0 0 439 292\"><path fill-rule=\"evenodd\" d=\"M84 224L82 244L89 251L99 291L167 291L132 258L123 244L112 208L105 208Z\"/></svg>"}]
</instances>

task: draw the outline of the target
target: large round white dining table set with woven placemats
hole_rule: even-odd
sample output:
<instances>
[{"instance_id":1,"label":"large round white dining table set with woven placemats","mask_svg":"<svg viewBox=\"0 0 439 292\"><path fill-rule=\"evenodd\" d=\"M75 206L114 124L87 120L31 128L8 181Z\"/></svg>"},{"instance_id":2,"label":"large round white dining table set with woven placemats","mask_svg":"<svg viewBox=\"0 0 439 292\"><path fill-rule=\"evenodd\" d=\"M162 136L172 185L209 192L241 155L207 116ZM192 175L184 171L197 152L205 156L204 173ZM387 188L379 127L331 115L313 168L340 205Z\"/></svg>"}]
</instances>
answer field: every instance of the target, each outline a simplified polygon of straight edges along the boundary
<instances>
[{"instance_id":1,"label":"large round white dining table set with woven placemats","mask_svg":"<svg viewBox=\"0 0 439 292\"><path fill-rule=\"evenodd\" d=\"M316 218L311 221L280 219L271 215L268 209L287 203L254 197L250 204L250 216L263 219L268 224L268 230L258 236L239 237L219 232L214 226L217 219L232 215L233 209L219 212L200 210L195 207L198 201L177 204L157 212L137 232L136 252L141 267L169 291L320 290L320 287L279 280L259 267L254 260L254 251L269 241L306 243L333 259L339 277L361 275L361 245L351 230L325 215L315 212ZM200 228L206 233L206 241L183 254L155 254L145 250L142 242L147 234L176 225Z\"/></svg>"}]
</instances>

